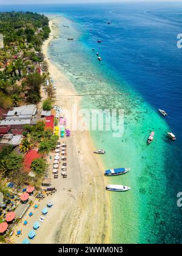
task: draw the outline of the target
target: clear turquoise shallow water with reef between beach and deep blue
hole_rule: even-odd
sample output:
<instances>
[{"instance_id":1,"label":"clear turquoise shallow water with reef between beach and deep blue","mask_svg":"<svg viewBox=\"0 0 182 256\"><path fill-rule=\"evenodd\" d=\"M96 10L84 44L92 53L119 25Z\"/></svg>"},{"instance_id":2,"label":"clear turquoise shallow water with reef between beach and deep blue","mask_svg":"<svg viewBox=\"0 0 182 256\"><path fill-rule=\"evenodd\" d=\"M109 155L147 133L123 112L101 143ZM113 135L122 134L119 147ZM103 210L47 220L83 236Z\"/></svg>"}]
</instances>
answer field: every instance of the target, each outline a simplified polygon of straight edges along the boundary
<instances>
[{"instance_id":1,"label":"clear turquoise shallow water with reef between beach and deep blue","mask_svg":"<svg viewBox=\"0 0 182 256\"><path fill-rule=\"evenodd\" d=\"M50 44L49 55L79 94L90 94L82 97L82 107L124 110L123 137L113 138L112 131L91 132L96 148L106 149L107 155L103 156L106 168L131 168L128 174L108 181L132 188L123 194L110 193L112 243L155 243L158 236L165 240L166 233L160 233L159 227L165 222L163 212L167 212L169 204L159 206L164 204L167 190L164 170L169 148L164 141L169 127L109 66L102 66L96 58L93 60L92 51L81 41L79 25L66 18L59 19L59 38ZM68 42L68 37L74 41ZM147 146L151 130L155 130L155 140Z\"/></svg>"}]
</instances>

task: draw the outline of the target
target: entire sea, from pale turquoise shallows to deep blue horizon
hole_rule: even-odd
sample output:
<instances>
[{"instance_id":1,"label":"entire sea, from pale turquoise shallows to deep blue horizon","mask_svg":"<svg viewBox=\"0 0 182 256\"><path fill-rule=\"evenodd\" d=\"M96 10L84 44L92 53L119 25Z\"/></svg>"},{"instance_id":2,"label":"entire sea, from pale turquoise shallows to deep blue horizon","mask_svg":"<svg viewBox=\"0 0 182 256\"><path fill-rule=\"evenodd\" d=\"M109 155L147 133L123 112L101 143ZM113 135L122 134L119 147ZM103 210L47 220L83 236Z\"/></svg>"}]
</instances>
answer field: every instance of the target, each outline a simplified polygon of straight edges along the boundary
<instances>
[{"instance_id":1,"label":"entire sea, from pale turquoise shallows to deep blue horizon","mask_svg":"<svg viewBox=\"0 0 182 256\"><path fill-rule=\"evenodd\" d=\"M131 168L124 176L109 178L108 183L131 187L124 194L110 193L110 242L181 243L177 193L182 185L182 49L177 48L177 35L182 4L0 7L56 18L59 33L50 43L49 55L76 91L87 94L82 107L124 110L121 138L113 138L112 131L90 132L95 147L107 152L102 156L104 168ZM67 42L69 37L73 42ZM158 108L168 116L161 116ZM155 138L147 146L152 130ZM167 138L170 131L177 141Z\"/></svg>"}]
</instances>

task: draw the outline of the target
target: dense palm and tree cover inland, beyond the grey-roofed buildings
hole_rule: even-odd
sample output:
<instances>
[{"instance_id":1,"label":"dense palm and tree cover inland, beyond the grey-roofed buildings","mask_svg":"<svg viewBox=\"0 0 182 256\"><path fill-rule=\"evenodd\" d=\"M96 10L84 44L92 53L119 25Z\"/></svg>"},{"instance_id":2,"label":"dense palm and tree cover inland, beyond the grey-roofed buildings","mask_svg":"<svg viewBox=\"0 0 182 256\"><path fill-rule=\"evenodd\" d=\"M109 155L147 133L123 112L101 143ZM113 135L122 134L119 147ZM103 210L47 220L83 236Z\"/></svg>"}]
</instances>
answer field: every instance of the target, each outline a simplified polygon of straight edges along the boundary
<instances>
[{"instance_id":1,"label":"dense palm and tree cover inland, beyond the grey-roofed buildings","mask_svg":"<svg viewBox=\"0 0 182 256\"><path fill-rule=\"evenodd\" d=\"M41 46L49 32L49 20L44 15L0 12L0 34L4 36L4 48L0 49L0 107L8 109L21 102L36 104L41 100L45 74L40 75L40 63L46 66Z\"/></svg>"}]
</instances>

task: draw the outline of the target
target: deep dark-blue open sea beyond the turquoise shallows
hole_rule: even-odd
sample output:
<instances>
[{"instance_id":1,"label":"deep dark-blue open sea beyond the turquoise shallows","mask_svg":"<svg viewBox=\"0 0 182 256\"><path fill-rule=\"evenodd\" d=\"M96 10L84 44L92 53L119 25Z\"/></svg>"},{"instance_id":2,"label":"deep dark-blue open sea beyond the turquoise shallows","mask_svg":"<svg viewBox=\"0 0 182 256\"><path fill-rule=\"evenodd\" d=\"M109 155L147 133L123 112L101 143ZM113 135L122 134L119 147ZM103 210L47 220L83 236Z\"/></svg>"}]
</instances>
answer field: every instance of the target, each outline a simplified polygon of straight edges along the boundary
<instances>
[{"instance_id":1,"label":"deep dark-blue open sea beyond the turquoise shallows","mask_svg":"<svg viewBox=\"0 0 182 256\"><path fill-rule=\"evenodd\" d=\"M79 40L90 51L95 48L99 52L106 70L112 70L115 77L139 93L155 112L158 113L158 108L166 110L168 116L165 120L177 141L169 141L166 177L167 186L173 188L173 193L163 202L172 200L174 204L166 212L167 216L172 215L170 230L165 231L169 232L169 237L166 235L166 240L163 240L159 236L157 242L182 243L182 208L175 204L177 193L182 191L182 48L177 48L177 35L182 34L182 2L0 5L0 10L29 10L45 15L59 13L76 21L84 32ZM98 44L97 40L102 43ZM164 224L161 221L161 232Z\"/></svg>"}]
</instances>

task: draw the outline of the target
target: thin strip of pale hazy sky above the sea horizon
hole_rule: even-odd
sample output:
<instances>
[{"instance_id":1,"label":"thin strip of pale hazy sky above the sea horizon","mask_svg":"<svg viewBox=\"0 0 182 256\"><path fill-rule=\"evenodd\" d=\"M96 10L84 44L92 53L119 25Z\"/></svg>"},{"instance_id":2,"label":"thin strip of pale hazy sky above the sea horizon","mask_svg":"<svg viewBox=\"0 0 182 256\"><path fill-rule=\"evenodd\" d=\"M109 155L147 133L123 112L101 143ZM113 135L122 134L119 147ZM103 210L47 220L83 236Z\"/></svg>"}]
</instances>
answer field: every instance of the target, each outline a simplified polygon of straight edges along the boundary
<instances>
[{"instance_id":1,"label":"thin strip of pale hazy sky above the sea horizon","mask_svg":"<svg viewBox=\"0 0 182 256\"><path fill-rule=\"evenodd\" d=\"M0 4L53 4L53 3L67 3L67 2L175 2L174 0L0 0ZM181 1L181 0L176 0Z\"/></svg>"}]
</instances>

